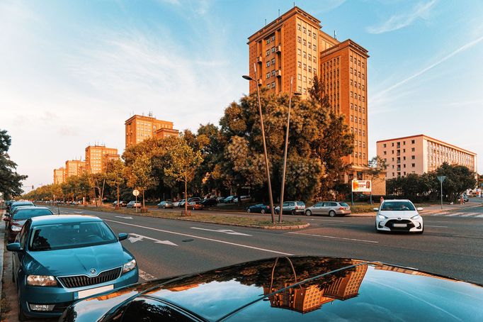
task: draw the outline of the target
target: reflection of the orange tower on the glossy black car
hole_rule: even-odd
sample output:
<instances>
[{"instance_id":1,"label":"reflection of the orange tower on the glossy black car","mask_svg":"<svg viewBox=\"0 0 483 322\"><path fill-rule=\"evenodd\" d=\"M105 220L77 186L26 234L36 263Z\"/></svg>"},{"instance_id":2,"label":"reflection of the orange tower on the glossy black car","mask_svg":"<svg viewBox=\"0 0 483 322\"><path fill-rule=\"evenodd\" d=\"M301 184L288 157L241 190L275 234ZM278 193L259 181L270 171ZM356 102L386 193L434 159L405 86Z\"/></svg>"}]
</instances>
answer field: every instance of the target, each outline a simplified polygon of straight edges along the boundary
<instances>
[{"instance_id":1,"label":"reflection of the orange tower on the glossy black car","mask_svg":"<svg viewBox=\"0 0 483 322\"><path fill-rule=\"evenodd\" d=\"M368 265L358 265L353 271L345 271L344 277L337 278L329 286L321 289L318 284L309 286L290 287L284 292L269 296L270 304L280 309L290 309L300 313L307 313L319 309L322 304L329 303L335 299L344 301L358 295ZM290 284L285 284L288 287ZM276 292L277 288L263 287L263 294L267 295Z\"/></svg>"}]
</instances>

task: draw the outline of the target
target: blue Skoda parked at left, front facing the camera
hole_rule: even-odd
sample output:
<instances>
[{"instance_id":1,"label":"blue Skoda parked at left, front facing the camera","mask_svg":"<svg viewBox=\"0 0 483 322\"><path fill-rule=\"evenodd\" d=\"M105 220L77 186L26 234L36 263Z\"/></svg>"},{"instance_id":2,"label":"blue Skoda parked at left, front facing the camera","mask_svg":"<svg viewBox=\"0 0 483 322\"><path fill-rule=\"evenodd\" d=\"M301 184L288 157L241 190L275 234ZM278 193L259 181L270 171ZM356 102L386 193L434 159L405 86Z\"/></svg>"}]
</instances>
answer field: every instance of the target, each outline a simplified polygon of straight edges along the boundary
<instances>
[{"instance_id":1,"label":"blue Skoda parked at left, front facing the camera","mask_svg":"<svg viewBox=\"0 0 483 322\"><path fill-rule=\"evenodd\" d=\"M28 219L7 245L13 251L18 319L52 318L78 299L137 283L134 256L95 216L52 215Z\"/></svg>"}]
</instances>

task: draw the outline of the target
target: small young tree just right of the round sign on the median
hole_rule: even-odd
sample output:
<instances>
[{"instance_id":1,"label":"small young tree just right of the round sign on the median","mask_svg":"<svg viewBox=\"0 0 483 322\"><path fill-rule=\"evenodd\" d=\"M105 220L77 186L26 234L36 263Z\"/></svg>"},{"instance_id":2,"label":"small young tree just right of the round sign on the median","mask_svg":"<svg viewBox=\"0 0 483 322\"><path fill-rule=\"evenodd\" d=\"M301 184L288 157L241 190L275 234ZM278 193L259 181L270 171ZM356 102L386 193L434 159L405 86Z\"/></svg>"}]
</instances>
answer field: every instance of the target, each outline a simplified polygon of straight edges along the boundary
<instances>
[{"instance_id":1,"label":"small young tree just right of the round sign on the median","mask_svg":"<svg viewBox=\"0 0 483 322\"><path fill-rule=\"evenodd\" d=\"M157 184L157 178L152 175L152 165L146 154L137 155L132 165L127 167L127 182L130 187L140 189L142 193L142 209L144 206L144 191Z\"/></svg>"}]
</instances>

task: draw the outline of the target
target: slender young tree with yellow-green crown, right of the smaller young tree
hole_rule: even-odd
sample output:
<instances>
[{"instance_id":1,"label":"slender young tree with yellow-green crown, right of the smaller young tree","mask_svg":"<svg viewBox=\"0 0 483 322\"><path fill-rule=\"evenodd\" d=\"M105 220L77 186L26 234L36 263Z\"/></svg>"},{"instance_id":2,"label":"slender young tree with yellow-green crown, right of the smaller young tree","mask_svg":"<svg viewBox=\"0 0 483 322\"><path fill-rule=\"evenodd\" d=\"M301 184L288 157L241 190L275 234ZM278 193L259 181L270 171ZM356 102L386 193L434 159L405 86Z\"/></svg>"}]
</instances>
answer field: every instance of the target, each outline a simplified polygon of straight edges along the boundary
<instances>
[{"instance_id":1,"label":"slender young tree with yellow-green crown, right of the smaller young tree","mask_svg":"<svg viewBox=\"0 0 483 322\"><path fill-rule=\"evenodd\" d=\"M184 183L185 191L185 214L188 214L188 182L193 179L196 168L203 162L201 152L194 151L184 138L178 138L178 144L174 145L169 153L169 163L164 168L164 173Z\"/></svg>"}]
</instances>

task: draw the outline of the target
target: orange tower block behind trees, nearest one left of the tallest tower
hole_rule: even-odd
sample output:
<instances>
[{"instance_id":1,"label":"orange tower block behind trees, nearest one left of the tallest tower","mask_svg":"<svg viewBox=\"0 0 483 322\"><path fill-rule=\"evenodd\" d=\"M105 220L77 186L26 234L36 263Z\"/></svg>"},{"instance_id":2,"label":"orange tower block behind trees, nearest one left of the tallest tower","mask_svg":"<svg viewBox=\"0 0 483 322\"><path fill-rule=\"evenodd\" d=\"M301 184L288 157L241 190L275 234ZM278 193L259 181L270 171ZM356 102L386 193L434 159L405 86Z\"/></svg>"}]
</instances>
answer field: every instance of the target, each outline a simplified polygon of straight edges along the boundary
<instances>
[{"instance_id":1,"label":"orange tower block behind trees, nearest one left of the tallest tower","mask_svg":"<svg viewBox=\"0 0 483 322\"><path fill-rule=\"evenodd\" d=\"M135 115L125 121L126 148L148 138L178 136L173 122L161 121L152 116Z\"/></svg>"}]
</instances>

